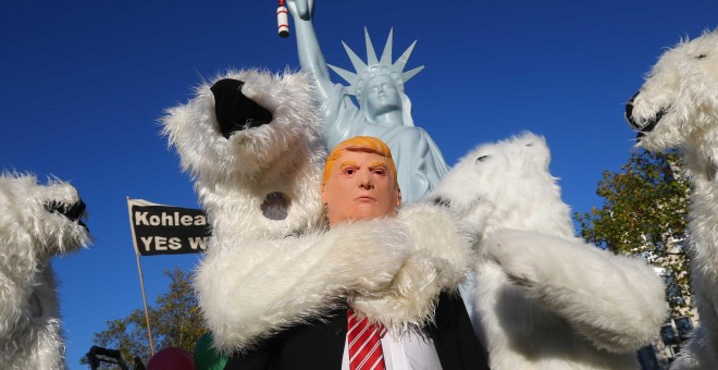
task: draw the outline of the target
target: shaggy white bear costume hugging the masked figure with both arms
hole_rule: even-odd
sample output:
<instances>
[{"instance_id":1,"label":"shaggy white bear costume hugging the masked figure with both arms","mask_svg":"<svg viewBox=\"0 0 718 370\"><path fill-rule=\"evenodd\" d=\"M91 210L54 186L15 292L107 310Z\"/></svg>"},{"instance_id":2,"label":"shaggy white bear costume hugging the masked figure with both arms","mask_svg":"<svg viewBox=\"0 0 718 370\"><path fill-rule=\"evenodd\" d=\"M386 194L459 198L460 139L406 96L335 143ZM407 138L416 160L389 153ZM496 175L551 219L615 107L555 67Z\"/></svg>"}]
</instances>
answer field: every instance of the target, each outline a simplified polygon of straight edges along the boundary
<instances>
[{"instance_id":1,"label":"shaggy white bear costume hugging the masked figure with both arms","mask_svg":"<svg viewBox=\"0 0 718 370\"><path fill-rule=\"evenodd\" d=\"M243 71L222 78L245 82L242 92L269 110L271 122L223 136L210 84L163 120L213 226L195 287L215 344L246 350L347 299L389 330L430 320L440 291L465 279L470 236L429 205L327 230L325 151L307 76ZM276 193L288 207L270 219L261 205Z\"/></svg>"}]
</instances>

